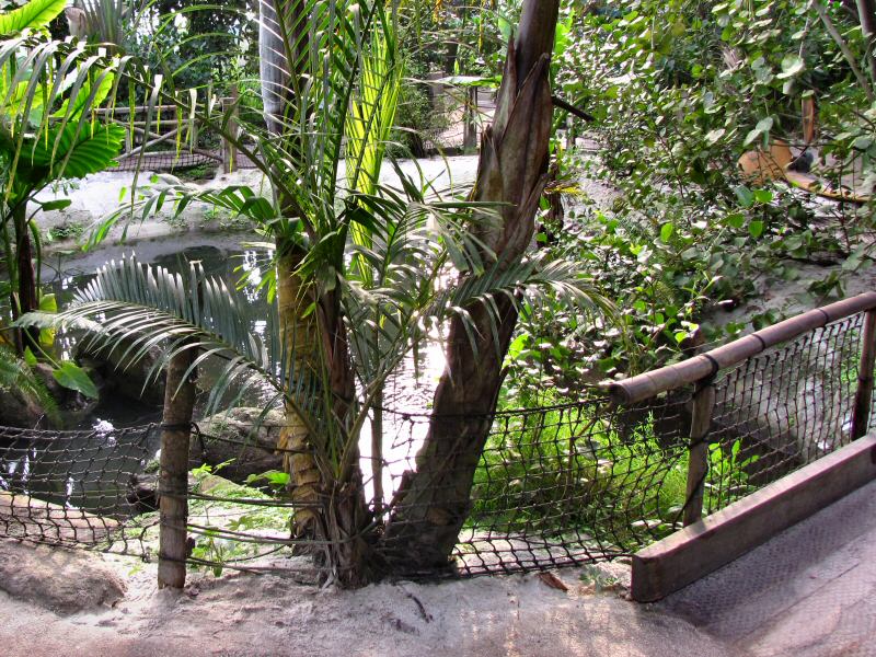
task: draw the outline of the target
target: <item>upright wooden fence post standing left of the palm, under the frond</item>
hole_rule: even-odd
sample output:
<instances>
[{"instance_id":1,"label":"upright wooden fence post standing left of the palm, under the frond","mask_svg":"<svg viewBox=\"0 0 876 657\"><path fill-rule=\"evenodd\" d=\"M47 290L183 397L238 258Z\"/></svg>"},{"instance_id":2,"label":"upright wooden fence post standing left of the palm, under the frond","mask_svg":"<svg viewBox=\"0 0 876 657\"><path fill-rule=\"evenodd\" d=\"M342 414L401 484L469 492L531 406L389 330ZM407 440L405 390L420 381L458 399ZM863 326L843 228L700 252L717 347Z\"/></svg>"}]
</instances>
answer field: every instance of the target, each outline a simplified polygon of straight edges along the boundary
<instances>
[{"instance_id":1,"label":"upright wooden fence post standing left of the palm, under the frond","mask_svg":"<svg viewBox=\"0 0 876 657\"><path fill-rule=\"evenodd\" d=\"M183 588L188 557L188 438L195 405L195 377L183 377L192 367L197 349L176 354L168 366L164 384L164 414L161 431L161 475L159 480L158 587Z\"/></svg>"}]
</instances>

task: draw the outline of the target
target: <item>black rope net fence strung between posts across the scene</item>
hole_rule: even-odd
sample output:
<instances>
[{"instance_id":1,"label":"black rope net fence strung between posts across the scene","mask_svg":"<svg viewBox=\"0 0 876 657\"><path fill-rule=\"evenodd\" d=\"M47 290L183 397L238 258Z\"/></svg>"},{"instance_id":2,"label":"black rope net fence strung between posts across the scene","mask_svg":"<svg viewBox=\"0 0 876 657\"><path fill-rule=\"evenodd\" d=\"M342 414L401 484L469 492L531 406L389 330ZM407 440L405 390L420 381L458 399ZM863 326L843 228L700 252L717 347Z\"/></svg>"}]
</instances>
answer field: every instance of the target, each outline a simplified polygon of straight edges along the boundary
<instances>
[{"instance_id":1,"label":"black rope net fence strung between posts across the scene","mask_svg":"<svg viewBox=\"0 0 876 657\"><path fill-rule=\"evenodd\" d=\"M464 510L451 556L456 575L630 555L680 529L693 505L713 514L851 442L865 316L829 322L718 369L707 379L715 390L711 430L695 440L702 382L629 404L593 392L466 417L489 427L480 459L466 462L459 438L438 446L451 465L439 470L428 500L406 493L427 446L435 449L437 423L458 418L383 410L382 454L371 452L367 430L359 441L361 495L372 519L361 537L338 540L364 538L378 558L397 561L393 537L405 533L405 523L417 531L440 498L440 508ZM258 415L196 423L189 563L315 579L319 545L292 530L296 514L312 506L296 502L284 471L284 458L301 452L277 448L281 415L255 422ZM0 429L0 534L149 558L158 551L159 434L154 425ZM692 454L702 443L707 469L696 475Z\"/></svg>"}]
</instances>

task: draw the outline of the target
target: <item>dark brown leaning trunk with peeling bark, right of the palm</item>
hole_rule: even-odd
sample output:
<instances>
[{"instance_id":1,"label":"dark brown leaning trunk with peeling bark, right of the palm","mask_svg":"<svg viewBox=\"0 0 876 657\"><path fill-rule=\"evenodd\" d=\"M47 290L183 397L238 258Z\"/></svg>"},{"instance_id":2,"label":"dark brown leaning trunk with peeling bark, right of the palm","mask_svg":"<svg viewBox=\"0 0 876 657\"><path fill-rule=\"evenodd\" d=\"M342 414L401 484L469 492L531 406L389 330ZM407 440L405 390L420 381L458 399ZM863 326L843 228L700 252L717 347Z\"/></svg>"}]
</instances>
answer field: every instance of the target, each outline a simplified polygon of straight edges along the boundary
<instances>
[{"instance_id":1,"label":"dark brown leaning trunk with peeling bark, right of the palm","mask_svg":"<svg viewBox=\"0 0 876 657\"><path fill-rule=\"evenodd\" d=\"M519 34L509 44L495 122L482 137L473 199L508 205L498 222L484 217L476 232L499 266L523 256L546 182L549 62L558 11L558 0L526 0ZM517 323L510 300L499 299L497 307L497 342L483 306L468 309L477 328L476 348L462 322L451 323L448 366L435 393L429 433L381 544L396 570L447 568L469 514L474 472L502 385L502 362Z\"/></svg>"}]
</instances>

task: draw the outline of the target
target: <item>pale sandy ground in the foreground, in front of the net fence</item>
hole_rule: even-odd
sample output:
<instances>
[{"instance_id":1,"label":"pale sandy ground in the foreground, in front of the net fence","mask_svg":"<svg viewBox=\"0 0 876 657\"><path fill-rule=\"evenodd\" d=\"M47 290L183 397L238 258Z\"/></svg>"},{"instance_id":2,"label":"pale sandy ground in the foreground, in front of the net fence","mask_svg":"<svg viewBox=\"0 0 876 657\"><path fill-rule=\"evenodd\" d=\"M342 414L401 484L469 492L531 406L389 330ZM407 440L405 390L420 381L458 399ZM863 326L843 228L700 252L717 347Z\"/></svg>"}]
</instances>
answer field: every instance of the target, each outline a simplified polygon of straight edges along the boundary
<instances>
[{"instance_id":1,"label":"pale sandy ground in the foreground, in front of the net fence","mask_svg":"<svg viewBox=\"0 0 876 657\"><path fill-rule=\"evenodd\" d=\"M116 561L117 567L132 562ZM196 575L157 590L154 566L126 577L115 608L62 616L0 592L0 654L42 656L735 655L687 621L593 592L579 569L437 585L320 589L267 575ZM616 570L616 567L615 567Z\"/></svg>"}]
</instances>

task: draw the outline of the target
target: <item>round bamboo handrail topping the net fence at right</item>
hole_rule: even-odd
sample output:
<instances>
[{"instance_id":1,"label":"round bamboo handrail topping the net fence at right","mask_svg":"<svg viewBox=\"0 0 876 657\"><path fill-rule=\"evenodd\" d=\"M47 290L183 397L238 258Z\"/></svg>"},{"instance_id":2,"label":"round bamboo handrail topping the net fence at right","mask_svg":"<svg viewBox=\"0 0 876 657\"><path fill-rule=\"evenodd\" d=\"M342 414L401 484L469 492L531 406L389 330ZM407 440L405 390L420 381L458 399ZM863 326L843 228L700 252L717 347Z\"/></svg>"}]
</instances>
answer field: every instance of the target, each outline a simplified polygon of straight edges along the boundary
<instances>
[{"instance_id":1,"label":"round bamboo handrail topping the net fence at right","mask_svg":"<svg viewBox=\"0 0 876 657\"><path fill-rule=\"evenodd\" d=\"M792 341L830 322L873 309L876 309L876 292L864 292L843 299L779 322L682 362L624 381L612 381L608 385L609 394L618 404L634 404L662 392L696 383L723 369L739 365L770 347Z\"/></svg>"}]
</instances>

